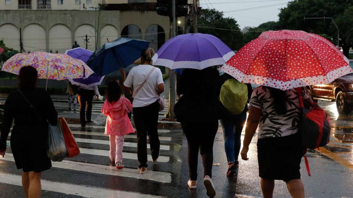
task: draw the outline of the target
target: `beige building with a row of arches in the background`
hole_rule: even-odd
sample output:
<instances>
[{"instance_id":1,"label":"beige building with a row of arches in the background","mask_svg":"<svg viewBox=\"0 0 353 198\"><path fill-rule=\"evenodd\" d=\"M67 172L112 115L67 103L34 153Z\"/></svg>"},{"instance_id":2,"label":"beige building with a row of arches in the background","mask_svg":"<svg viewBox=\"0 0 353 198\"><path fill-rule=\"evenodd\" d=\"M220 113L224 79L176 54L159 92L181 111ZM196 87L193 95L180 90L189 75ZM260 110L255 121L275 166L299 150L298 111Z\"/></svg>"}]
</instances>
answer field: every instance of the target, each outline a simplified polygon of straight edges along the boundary
<instances>
[{"instance_id":1,"label":"beige building with a row of arches in the background","mask_svg":"<svg viewBox=\"0 0 353 198\"><path fill-rule=\"evenodd\" d=\"M101 0L99 4L108 9L100 12L88 7L98 7L98 0L79 0L81 7L76 1L0 0L0 39L16 50L20 50L21 38L23 51L61 53L71 49L74 41L94 50L96 43L99 48L107 39L130 37L150 41L150 47L157 50L169 39L169 18L157 15L156 1ZM110 5L119 8L112 10Z\"/></svg>"}]
</instances>

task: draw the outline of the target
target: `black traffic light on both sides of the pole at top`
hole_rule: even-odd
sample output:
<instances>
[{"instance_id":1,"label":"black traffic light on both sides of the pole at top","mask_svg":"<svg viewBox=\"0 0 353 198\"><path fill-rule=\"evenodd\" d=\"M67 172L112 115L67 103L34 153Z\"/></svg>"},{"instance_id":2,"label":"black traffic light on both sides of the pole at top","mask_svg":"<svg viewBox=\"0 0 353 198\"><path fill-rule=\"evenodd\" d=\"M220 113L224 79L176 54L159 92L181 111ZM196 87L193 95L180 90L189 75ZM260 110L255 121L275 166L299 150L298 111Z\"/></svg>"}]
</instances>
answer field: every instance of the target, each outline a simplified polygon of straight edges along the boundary
<instances>
[{"instance_id":1,"label":"black traffic light on both sides of the pole at top","mask_svg":"<svg viewBox=\"0 0 353 198\"><path fill-rule=\"evenodd\" d=\"M188 8L187 0L175 0L175 15L176 17L187 16ZM172 0L157 0L156 11L158 15L169 16L172 18Z\"/></svg>"}]
</instances>

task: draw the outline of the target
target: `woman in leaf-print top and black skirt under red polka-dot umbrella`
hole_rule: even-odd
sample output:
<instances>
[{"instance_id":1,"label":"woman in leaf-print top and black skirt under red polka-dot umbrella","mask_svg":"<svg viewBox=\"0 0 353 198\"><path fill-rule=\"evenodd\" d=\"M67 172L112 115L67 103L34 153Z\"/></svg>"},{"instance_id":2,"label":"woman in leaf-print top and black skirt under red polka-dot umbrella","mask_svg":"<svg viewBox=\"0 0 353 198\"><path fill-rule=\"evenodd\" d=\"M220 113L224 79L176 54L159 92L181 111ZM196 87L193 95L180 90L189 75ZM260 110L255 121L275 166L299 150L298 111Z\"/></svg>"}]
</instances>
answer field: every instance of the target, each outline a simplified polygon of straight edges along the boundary
<instances>
[{"instance_id":1,"label":"woman in leaf-print top and black skirt under red polka-dot umbrella","mask_svg":"<svg viewBox=\"0 0 353 198\"><path fill-rule=\"evenodd\" d=\"M312 103L303 89L303 99ZM249 107L241 158L248 160L249 145L259 126L257 158L263 197L272 197L274 180L283 180L292 197L304 198L299 171L303 148L298 131L301 109L297 90L259 86L252 92Z\"/></svg>"}]
</instances>

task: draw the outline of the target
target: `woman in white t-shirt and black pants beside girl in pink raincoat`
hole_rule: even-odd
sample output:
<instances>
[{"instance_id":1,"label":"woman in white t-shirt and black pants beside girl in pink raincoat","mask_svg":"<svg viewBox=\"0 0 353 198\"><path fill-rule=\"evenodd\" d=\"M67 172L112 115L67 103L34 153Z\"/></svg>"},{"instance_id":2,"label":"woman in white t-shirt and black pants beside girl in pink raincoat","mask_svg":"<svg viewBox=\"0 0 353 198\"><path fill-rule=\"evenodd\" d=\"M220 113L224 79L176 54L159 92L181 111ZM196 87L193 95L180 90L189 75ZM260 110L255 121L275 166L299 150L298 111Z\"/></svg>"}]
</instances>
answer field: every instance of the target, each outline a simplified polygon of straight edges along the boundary
<instances>
[{"instance_id":1,"label":"woman in white t-shirt and black pants beside girl in pink raincoat","mask_svg":"<svg viewBox=\"0 0 353 198\"><path fill-rule=\"evenodd\" d=\"M153 162L157 161L160 153L160 141L157 131L158 97L164 91L164 82L161 70L152 66L152 56L154 54L155 52L152 48L144 50L140 57L141 64L133 67L127 77L124 70L120 70L124 88L127 90L131 89L131 87L134 88L135 97L132 103L132 113L137 132L137 158L140 163L141 174L145 174L147 171L146 134L149 136ZM152 69L154 70L152 71ZM149 73L150 75L148 76ZM148 76L147 79L146 76ZM144 83L145 80L146 82ZM142 83L144 84L139 89Z\"/></svg>"}]
</instances>

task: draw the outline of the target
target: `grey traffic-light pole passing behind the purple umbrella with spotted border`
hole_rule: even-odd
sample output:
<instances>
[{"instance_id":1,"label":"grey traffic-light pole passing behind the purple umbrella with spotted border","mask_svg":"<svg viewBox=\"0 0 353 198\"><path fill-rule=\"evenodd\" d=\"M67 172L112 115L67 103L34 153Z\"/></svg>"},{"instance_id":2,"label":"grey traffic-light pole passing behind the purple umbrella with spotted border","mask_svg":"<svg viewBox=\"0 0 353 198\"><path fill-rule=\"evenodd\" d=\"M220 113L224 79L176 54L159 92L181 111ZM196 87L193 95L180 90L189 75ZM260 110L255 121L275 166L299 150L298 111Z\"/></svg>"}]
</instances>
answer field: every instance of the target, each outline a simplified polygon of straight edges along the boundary
<instances>
[{"instance_id":1,"label":"grey traffic-light pole passing behind the purple umbrella with spotted border","mask_svg":"<svg viewBox=\"0 0 353 198\"><path fill-rule=\"evenodd\" d=\"M175 16L175 0L172 0L172 38L176 35L176 26L177 26L177 19ZM174 105L175 105L175 72L174 69L169 69L169 108L168 108L168 115L170 119L174 119Z\"/></svg>"}]
</instances>

